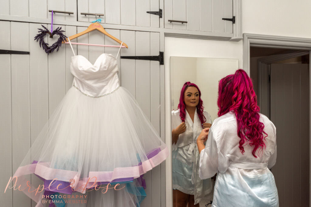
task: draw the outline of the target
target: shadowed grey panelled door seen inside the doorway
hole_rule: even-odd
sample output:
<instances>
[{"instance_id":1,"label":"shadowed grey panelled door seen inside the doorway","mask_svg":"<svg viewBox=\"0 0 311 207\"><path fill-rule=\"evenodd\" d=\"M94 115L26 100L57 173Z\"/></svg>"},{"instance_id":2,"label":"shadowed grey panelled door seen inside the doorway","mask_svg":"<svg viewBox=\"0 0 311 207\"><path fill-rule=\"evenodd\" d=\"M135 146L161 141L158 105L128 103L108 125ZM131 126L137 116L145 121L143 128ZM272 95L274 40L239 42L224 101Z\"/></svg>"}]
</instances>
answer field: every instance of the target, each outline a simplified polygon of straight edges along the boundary
<instances>
[{"instance_id":1,"label":"shadowed grey panelled door seen inside the doorway","mask_svg":"<svg viewBox=\"0 0 311 207\"><path fill-rule=\"evenodd\" d=\"M272 167L280 206L309 206L309 65L271 65L271 120L277 160Z\"/></svg>"}]
</instances>

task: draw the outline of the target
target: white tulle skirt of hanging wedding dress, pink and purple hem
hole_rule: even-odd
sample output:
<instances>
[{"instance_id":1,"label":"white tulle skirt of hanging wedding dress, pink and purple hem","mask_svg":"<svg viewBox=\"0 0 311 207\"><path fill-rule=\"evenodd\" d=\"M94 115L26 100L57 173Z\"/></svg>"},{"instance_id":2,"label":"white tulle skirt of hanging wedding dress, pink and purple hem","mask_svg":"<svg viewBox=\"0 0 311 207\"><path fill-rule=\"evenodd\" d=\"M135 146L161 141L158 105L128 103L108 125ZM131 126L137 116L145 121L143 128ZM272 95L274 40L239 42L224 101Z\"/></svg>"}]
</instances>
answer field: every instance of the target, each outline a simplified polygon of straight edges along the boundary
<instances>
[{"instance_id":1,"label":"white tulle skirt of hanging wedding dress, pink and purple hem","mask_svg":"<svg viewBox=\"0 0 311 207\"><path fill-rule=\"evenodd\" d=\"M125 88L92 98L72 87L16 170L13 178L17 181L12 180L12 184L26 187L23 192L37 206L42 206L45 194L53 192L90 198L85 204L66 206L136 206L143 196L137 179L168 154L165 143ZM31 174L40 182L35 186L30 182L28 187ZM124 188L106 193L96 190L96 184L104 187L108 183L120 183L117 188ZM38 184L44 184L45 191L37 192Z\"/></svg>"}]
</instances>

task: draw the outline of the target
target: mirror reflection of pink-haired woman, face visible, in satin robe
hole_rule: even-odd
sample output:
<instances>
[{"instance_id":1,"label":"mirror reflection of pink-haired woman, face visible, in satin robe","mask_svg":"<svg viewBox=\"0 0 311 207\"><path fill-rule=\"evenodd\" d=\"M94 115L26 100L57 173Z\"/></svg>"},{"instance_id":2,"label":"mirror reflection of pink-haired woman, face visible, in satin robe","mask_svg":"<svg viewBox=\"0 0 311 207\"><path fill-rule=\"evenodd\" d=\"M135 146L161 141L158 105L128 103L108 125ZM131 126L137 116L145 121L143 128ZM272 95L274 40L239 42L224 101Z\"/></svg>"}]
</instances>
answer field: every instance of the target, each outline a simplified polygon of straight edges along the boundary
<instances>
[{"instance_id":1,"label":"mirror reflection of pink-haired woman, face visible, in satin robe","mask_svg":"<svg viewBox=\"0 0 311 207\"><path fill-rule=\"evenodd\" d=\"M212 190L211 179L199 178L196 138L211 126L211 115L203 110L201 91L186 82L180 92L178 110L172 111L172 169L174 207L199 206Z\"/></svg>"}]
</instances>

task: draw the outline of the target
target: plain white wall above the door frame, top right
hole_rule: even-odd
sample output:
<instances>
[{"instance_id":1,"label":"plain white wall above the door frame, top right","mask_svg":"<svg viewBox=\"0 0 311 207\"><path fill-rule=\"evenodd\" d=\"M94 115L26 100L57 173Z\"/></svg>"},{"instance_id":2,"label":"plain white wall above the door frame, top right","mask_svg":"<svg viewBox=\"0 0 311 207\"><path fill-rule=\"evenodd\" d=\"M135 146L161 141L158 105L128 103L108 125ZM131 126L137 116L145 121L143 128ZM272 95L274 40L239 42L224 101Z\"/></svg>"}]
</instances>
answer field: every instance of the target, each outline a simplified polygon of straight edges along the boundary
<instances>
[{"instance_id":1,"label":"plain white wall above the door frame, top right","mask_svg":"<svg viewBox=\"0 0 311 207\"><path fill-rule=\"evenodd\" d=\"M242 1L242 32L311 38L310 0Z\"/></svg>"}]
</instances>

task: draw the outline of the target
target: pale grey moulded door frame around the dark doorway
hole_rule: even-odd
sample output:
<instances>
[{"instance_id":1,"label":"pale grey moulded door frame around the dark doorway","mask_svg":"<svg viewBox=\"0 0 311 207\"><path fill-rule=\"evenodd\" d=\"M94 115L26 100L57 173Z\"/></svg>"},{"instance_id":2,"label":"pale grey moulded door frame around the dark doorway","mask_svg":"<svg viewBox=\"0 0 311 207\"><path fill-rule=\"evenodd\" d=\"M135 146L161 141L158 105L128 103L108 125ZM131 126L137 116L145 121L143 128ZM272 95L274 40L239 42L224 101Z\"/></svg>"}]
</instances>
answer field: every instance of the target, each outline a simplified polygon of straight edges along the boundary
<instances>
[{"instance_id":1,"label":"pale grey moulded door frame around the dark doorway","mask_svg":"<svg viewBox=\"0 0 311 207\"><path fill-rule=\"evenodd\" d=\"M250 47L273 47L309 50L311 60L311 38L285 37L264 34L243 34L243 69L250 75ZM309 97L311 97L311 64L309 64ZM311 200L311 101L309 101L309 200Z\"/></svg>"}]
</instances>

